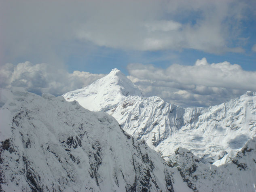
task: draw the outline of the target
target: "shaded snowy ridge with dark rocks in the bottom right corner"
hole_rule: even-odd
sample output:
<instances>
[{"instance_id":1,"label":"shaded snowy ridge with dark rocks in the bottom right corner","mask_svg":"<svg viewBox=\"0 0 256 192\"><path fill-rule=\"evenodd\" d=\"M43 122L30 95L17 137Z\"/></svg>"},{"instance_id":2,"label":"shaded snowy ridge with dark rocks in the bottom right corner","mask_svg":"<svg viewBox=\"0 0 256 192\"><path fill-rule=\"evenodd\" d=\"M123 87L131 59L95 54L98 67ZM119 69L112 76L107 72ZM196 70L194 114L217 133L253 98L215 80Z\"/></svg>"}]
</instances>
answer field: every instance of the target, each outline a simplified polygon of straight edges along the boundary
<instances>
[{"instance_id":1,"label":"shaded snowy ridge with dark rocks in the bottom right corner","mask_svg":"<svg viewBox=\"0 0 256 192\"><path fill-rule=\"evenodd\" d=\"M180 147L170 156L168 165L176 167L183 181L194 191L254 192L256 137L249 139L243 148L227 154L223 159L225 162L218 162L219 167L215 166L217 162L206 165L189 150Z\"/></svg>"}]
</instances>

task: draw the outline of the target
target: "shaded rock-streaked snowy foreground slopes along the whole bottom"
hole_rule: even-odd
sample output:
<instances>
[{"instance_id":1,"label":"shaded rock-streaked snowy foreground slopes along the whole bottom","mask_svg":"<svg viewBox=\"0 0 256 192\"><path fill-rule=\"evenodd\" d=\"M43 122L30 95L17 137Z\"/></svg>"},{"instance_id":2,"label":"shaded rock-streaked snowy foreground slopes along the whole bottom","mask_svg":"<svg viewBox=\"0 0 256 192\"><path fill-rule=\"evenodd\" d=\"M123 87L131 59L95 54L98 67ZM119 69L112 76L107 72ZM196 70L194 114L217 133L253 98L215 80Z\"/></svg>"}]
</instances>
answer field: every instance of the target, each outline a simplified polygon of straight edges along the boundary
<instances>
[{"instance_id":1,"label":"shaded rock-streaked snowy foreground slopes along the whole bottom","mask_svg":"<svg viewBox=\"0 0 256 192\"><path fill-rule=\"evenodd\" d=\"M22 89L0 89L0 95L0 190L256 189L256 138L215 165L181 147L165 165L157 152L125 133L104 112ZM170 109L180 110L175 105Z\"/></svg>"}]
</instances>

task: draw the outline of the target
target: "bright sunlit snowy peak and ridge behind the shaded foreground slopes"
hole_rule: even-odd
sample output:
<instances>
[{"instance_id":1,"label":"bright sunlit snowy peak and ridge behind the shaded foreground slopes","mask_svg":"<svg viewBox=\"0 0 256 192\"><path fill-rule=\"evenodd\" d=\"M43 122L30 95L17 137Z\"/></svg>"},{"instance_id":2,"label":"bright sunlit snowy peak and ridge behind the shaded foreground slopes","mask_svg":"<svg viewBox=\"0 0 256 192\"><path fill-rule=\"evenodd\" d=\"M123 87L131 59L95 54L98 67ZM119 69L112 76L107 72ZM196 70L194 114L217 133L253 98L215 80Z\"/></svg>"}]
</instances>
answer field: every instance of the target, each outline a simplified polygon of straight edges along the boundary
<instances>
[{"instance_id":1,"label":"bright sunlit snowy peak and ridge behind the shaded foreground slopes","mask_svg":"<svg viewBox=\"0 0 256 192\"><path fill-rule=\"evenodd\" d=\"M120 86L119 82L125 83ZM182 108L159 97L142 97L132 82L115 69L95 83L63 96L90 110L108 112L127 133L144 139L165 157L182 147L212 163L256 135L256 93L252 92L209 108Z\"/></svg>"}]
</instances>

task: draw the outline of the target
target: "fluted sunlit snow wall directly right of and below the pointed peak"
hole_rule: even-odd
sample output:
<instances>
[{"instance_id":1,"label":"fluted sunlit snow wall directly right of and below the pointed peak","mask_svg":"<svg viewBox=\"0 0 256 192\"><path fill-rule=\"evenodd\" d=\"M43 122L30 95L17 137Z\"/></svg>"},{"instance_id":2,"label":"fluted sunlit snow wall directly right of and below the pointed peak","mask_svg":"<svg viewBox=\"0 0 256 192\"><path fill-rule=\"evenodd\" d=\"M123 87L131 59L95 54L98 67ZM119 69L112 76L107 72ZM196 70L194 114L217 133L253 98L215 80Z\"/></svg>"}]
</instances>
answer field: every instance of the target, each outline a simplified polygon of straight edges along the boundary
<instances>
[{"instance_id":1,"label":"fluted sunlit snow wall directly right of and below the pointed peak","mask_svg":"<svg viewBox=\"0 0 256 192\"><path fill-rule=\"evenodd\" d=\"M164 102L160 97L128 96L112 116L127 133L144 139L151 148L159 146L183 125L184 108Z\"/></svg>"}]
</instances>

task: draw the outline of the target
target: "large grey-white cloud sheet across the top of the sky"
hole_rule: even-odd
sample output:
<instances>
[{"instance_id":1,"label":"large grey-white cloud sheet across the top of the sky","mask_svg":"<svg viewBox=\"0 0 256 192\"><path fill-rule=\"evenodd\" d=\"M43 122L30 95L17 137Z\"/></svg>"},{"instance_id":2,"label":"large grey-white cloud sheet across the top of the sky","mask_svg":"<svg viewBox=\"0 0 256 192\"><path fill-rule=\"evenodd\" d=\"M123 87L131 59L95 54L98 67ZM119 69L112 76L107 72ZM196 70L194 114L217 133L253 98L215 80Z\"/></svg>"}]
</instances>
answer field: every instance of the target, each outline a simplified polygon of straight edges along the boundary
<instances>
[{"instance_id":1,"label":"large grey-white cloud sheet across the top of the sky","mask_svg":"<svg viewBox=\"0 0 256 192\"><path fill-rule=\"evenodd\" d=\"M239 0L8 0L0 6L1 53L8 61L61 63L80 46L90 51L88 42L144 51L242 52L232 41L250 6Z\"/></svg>"}]
</instances>

